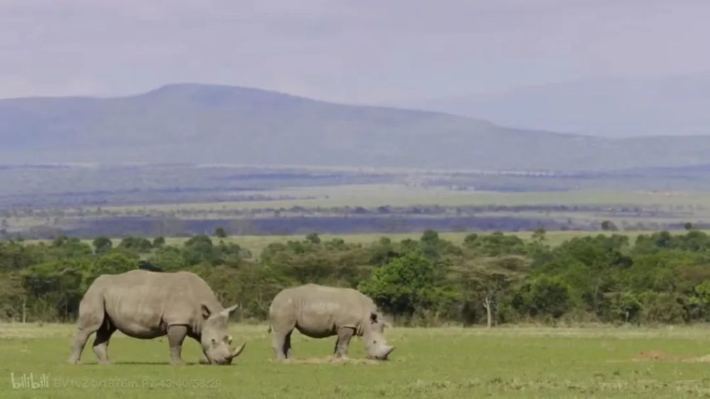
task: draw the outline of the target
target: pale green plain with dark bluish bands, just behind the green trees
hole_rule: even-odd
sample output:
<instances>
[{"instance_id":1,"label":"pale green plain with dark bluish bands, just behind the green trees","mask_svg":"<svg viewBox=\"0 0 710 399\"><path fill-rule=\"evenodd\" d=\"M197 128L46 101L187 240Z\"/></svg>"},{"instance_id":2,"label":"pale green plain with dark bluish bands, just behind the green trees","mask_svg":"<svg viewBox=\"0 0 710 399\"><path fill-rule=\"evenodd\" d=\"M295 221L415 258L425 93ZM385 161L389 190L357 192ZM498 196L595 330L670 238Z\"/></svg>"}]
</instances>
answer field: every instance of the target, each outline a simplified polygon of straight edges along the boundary
<instances>
[{"instance_id":1,"label":"pale green plain with dark bluish bands, just behind the green trees","mask_svg":"<svg viewBox=\"0 0 710 399\"><path fill-rule=\"evenodd\" d=\"M25 209L1 212L6 234L190 236L222 226L240 234L594 230L609 220L627 231L710 225L708 192L574 190L491 192L404 184L329 185L239 192L249 198ZM239 196L238 196L239 197ZM77 199L77 201L80 201ZM381 209L382 208L382 209ZM430 209L425 209L430 208ZM434 210L432 210L432 208Z\"/></svg>"}]
</instances>

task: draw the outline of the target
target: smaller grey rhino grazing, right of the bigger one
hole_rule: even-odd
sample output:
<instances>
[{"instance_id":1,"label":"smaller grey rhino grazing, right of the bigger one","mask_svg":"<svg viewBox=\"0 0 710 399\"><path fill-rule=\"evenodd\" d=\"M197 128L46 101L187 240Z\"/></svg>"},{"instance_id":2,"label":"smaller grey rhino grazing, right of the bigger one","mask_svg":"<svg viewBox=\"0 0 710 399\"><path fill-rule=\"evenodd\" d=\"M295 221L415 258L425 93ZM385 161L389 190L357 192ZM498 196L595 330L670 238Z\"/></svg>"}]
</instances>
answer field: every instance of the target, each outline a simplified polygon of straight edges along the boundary
<instances>
[{"instance_id":1,"label":"smaller grey rhino grazing, right of the bigger one","mask_svg":"<svg viewBox=\"0 0 710 399\"><path fill-rule=\"evenodd\" d=\"M312 338L337 335L335 356L347 358L350 339L364 337L371 359L386 360L395 349L384 337L385 323L375 303L351 288L306 284L282 290L269 308L273 349L278 360L291 357L291 333Z\"/></svg>"}]
</instances>

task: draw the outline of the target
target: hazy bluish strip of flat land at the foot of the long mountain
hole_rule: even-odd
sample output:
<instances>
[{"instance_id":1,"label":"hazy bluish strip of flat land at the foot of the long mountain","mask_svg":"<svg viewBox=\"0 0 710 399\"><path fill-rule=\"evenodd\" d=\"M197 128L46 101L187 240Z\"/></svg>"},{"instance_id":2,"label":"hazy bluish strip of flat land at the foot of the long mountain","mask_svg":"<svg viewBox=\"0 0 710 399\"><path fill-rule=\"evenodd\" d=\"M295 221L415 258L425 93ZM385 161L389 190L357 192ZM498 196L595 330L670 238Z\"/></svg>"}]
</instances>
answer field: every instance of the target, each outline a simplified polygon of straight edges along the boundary
<instances>
[{"instance_id":1,"label":"hazy bluish strip of flat land at the foot of the long mountain","mask_svg":"<svg viewBox=\"0 0 710 399\"><path fill-rule=\"evenodd\" d=\"M446 190L497 192L709 191L708 167L607 173L312 170L287 167L165 165L0 165L0 209L105 207L263 200L282 187L410 184ZM111 176L111 179L107 179ZM240 195L235 195L235 192ZM271 198L269 198L271 197Z\"/></svg>"}]
</instances>

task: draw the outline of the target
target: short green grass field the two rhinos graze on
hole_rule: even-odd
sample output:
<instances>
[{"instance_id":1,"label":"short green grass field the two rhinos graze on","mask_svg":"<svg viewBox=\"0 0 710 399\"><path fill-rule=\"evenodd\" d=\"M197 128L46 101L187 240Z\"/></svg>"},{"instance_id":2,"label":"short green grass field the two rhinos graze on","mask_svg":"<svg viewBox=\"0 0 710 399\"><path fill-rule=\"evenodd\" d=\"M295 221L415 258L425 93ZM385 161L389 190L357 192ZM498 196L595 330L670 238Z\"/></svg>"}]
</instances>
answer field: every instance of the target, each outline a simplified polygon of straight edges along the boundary
<instances>
[{"instance_id":1,"label":"short green grass field the two rhinos graze on","mask_svg":"<svg viewBox=\"0 0 710 399\"><path fill-rule=\"evenodd\" d=\"M263 325L233 325L248 341L231 366L170 366L163 339L116 335L110 366L65 364L69 325L0 324L0 398L696 398L710 395L705 327L388 330L391 361L329 361L332 339L295 334L295 361L271 360ZM13 388L32 373L43 387ZM43 378L45 378L43 380ZM203 386L204 388L200 388Z\"/></svg>"}]
</instances>

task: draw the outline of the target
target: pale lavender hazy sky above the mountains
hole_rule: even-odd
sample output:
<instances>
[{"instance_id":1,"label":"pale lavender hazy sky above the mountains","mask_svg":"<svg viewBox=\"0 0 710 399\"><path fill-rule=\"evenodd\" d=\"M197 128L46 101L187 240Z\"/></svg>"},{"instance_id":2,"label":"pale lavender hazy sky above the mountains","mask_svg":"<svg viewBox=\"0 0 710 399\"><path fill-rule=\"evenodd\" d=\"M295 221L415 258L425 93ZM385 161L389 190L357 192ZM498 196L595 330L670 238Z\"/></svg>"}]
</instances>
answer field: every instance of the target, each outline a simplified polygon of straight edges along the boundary
<instances>
[{"instance_id":1,"label":"pale lavender hazy sky above the mountains","mask_svg":"<svg viewBox=\"0 0 710 399\"><path fill-rule=\"evenodd\" d=\"M710 73L708 0L0 0L0 97L171 82L396 104Z\"/></svg>"}]
</instances>

